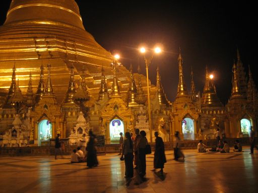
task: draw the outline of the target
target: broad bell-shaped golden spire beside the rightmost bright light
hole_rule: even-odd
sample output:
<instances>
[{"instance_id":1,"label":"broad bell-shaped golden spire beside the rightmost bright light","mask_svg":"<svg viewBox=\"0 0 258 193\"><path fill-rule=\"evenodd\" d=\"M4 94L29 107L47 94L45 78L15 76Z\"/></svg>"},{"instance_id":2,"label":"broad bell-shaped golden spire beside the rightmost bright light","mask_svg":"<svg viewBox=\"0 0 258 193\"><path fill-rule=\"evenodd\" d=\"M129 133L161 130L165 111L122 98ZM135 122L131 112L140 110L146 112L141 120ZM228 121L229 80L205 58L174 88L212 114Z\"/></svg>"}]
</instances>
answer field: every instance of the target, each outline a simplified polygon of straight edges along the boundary
<instances>
[{"instance_id":1,"label":"broad bell-shaped golden spire beside the rightmost bright light","mask_svg":"<svg viewBox=\"0 0 258 193\"><path fill-rule=\"evenodd\" d=\"M206 80L204 86L204 92L202 96L202 108L203 107L216 107L221 108L222 104L215 91L215 84L212 83L212 78L209 76L208 67L206 66Z\"/></svg>"}]
</instances>

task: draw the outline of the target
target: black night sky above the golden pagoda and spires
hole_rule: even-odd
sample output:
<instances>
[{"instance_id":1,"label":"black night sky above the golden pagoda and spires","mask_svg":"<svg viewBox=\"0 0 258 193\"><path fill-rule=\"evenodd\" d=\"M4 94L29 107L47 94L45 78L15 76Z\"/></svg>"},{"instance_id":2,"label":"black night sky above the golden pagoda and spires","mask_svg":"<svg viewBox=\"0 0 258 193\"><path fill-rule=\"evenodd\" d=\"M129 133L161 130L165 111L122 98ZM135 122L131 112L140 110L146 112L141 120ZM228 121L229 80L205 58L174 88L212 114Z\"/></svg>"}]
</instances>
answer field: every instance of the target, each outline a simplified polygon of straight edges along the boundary
<instances>
[{"instance_id":1,"label":"black night sky above the golden pagoda and spires","mask_svg":"<svg viewBox=\"0 0 258 193\"><path fill-rule=\"evenodd\" d=\"M4 1L0 12L3 24L11 1ZM250 65L256 76L257 11L251 1L85 1L77 0L85 29L106 50L118 50L128 68L135 71L140 63L146 74L141 43L154 47L160 43L164 52L154 56L150 79L156 84L160 64L161 80L168 99L173 101L178 83L178 47L184 59L184 77L190 90L192 66L197 90L203 90L205 66L215 75L215 84L225 104L231 92L231 69L240 50L244 67ZM225 4L226 2L226 4Z\"/></svg>"}]
</instances>

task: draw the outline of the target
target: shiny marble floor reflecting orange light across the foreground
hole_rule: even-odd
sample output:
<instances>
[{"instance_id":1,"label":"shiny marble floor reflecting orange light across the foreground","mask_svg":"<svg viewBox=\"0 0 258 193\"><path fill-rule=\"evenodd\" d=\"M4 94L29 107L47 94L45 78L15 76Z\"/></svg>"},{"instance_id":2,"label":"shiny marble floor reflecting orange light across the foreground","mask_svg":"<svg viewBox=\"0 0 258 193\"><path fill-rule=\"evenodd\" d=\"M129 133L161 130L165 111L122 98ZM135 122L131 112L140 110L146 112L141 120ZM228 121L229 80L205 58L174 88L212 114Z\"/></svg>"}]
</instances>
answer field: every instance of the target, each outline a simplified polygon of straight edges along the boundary
<instances>
[{"instance_id":1,"label":"shiny marble floor reflecting orange light across the foreground","mask_svg":"<svg viewBox=\"0 0 258 193\"><path fill-rule=\"evenodd\" d=\"M70 156L0 157L0 192L258 192L258 151L197 153L183 150L185 161L166 151L164 175L154 173L147 156L144 181L135 171L124 178L124 162L116 154L99 155L100 165L70 164Z\"/></svg>"}]
</instances>

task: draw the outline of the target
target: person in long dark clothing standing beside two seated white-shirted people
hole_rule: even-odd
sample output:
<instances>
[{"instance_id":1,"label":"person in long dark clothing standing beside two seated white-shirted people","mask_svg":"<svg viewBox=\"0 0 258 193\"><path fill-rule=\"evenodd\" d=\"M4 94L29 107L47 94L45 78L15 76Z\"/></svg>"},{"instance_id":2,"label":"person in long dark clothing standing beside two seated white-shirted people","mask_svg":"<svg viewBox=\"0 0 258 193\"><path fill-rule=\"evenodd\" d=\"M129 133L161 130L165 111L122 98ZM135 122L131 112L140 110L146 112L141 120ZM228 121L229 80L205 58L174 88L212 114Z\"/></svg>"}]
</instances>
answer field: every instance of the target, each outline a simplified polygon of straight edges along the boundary
<instances>
[{"instance_id":1,"label":"person in long dark clothing standing beside two seated white-shirted people","mask_svg":"<svg viewBox=\"0 0 258 193\"><path fill-rule=\"evenodd\" d=\"M92 131L89 131L90 139L87 143L87 166L88 167L96 167L98 166L97 160L97 149L96 149L96 138Z\"/></svg>"}]
</instances>

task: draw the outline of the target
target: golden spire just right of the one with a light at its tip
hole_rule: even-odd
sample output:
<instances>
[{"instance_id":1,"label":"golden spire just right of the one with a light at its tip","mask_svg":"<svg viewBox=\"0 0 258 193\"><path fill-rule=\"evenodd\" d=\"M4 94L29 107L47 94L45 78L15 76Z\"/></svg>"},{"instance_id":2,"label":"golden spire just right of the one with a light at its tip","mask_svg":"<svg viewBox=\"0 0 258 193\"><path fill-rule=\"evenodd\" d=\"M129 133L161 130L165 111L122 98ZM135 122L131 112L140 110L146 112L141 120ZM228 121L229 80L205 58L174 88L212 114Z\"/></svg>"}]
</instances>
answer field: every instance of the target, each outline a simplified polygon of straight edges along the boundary
<instances>
[{"instance_id":1,"label":"golden spire just right of the one with a light at its tip","mask_svg":"<svg viewBox=\"0 0 258 193\"><path fill-rule=\"evenodd\" d=\"M135 84L133 66L132 66L132 63L131 63L131 66L130 66L130 81L129 81L129 86L128 86L128 90L127 90L127 97L126 97L126 102L128 104L128 107L138 105L136 103L136 97L137 97L137 87L136 87L136 84Z\"/></svg>"}]
</instances>

